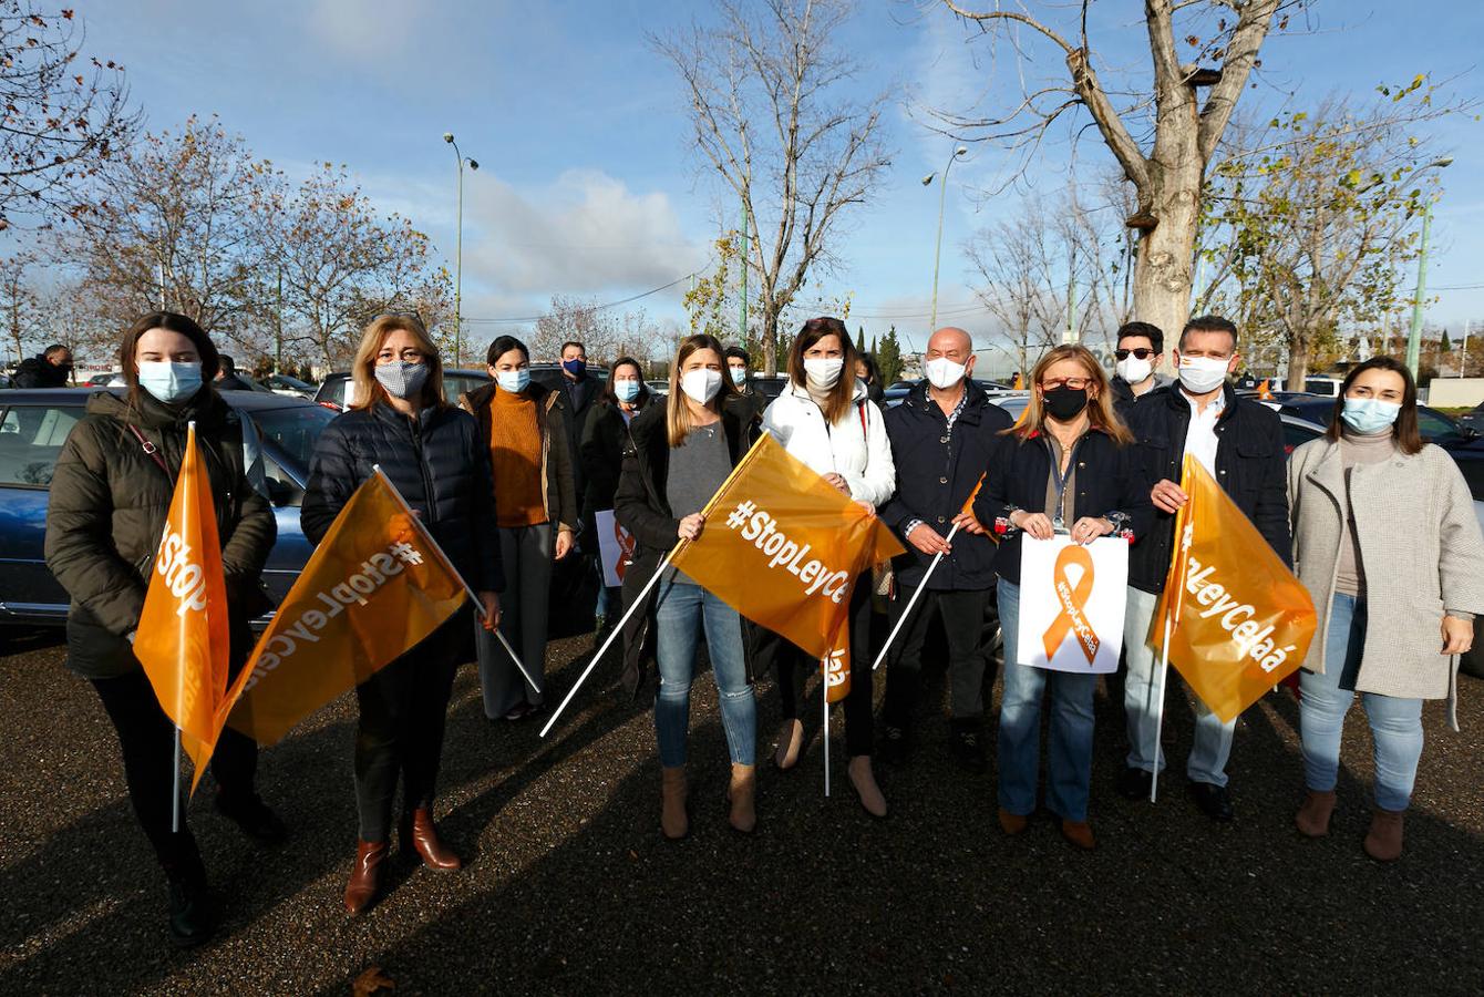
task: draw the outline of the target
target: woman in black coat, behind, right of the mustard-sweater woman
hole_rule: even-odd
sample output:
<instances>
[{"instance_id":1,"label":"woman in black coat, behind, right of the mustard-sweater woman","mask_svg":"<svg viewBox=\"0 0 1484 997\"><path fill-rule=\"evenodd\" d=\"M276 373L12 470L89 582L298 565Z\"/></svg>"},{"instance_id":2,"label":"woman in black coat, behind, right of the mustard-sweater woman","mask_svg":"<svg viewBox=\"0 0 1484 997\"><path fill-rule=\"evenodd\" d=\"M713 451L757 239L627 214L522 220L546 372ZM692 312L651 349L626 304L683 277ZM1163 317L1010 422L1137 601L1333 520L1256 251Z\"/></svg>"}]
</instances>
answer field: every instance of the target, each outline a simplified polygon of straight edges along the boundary
<instances>
[{"instance_id":1,"label":"woman in black coat, behind, right of the mustard-sweater woman","mask_svg":"<svg viewBox=\"0 0 1484 997\"><path fill-rule=\"evenodd\" d=\"M623 448L629 444L629 424L650 404L650 398L640 362L632 356L620 356L608 369L603 398L582 433L582 469L588 482L582 493L582 524L583 534L594 537L592 546L600 555L597 565L600 586L603 586L603 547L598 537L598 512L613 509L613 493L619 488L619 470L623 466ZM598 589L598 641L605 635L607 622L617 617L614 610L622 601L619 592L619 588Z\"/></svg>"}]
</instances>

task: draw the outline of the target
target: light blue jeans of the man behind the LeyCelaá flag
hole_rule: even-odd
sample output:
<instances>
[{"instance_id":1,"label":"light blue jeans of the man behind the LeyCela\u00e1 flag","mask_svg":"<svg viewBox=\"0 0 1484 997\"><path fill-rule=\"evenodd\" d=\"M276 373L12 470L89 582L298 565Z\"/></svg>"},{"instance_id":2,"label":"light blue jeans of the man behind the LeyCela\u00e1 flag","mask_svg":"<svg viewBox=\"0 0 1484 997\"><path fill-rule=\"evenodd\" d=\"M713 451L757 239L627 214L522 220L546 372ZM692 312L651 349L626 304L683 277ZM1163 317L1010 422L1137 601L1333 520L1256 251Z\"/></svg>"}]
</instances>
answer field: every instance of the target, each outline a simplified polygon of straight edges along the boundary
<instances>
[{"instance_id":1,"label":"light blue jeans of the man behind the LeyCela\u00e1 flag","mask_svg":"<svg viewBox=\"0 0 1484 997\"><path fill-rule=\"evenodd\" d=\"M1149 645L1149 623L1155 619L1159 596L1129 588L1128 610L1123 614L1123 660L1128 662L1128 678L1123 681L1123 712L1128 717L1129 769L1144 771L1165 770L1165 752L1155 743L1159 720L1159 702L1155 687L1159 684L1155 663L1155 648ZM1168 680L1175 678L1169 669ZM1236 720L1223 724L1199 696L1195 700L1196 736L1186 761L1186 776L1190 782L1205 782L1212 786L1226 785L1226 760L1232 754L1232 733Z\"/></svg>"}]
</instances>

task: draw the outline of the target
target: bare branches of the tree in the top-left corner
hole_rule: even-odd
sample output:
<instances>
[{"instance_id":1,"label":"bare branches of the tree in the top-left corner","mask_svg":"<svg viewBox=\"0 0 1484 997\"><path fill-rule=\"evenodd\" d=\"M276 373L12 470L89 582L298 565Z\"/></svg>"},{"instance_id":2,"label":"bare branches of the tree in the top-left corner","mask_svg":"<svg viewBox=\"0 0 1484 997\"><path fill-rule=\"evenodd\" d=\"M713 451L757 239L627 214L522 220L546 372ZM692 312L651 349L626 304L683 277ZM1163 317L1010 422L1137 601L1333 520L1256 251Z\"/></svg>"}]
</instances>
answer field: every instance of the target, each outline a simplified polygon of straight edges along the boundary
<instances>
[{"instance_id":1,"label":"bare branches of the tree in the top-left corner","mask_svg":"<svg viewBox=\"0 0 1484 997\"><path fill-rule=\"evenodd\" d=\"M79 211L77 194L128 144L123 67L82 61L73 10L0 0L0 228Z\"/></svg>"}]
</instances>

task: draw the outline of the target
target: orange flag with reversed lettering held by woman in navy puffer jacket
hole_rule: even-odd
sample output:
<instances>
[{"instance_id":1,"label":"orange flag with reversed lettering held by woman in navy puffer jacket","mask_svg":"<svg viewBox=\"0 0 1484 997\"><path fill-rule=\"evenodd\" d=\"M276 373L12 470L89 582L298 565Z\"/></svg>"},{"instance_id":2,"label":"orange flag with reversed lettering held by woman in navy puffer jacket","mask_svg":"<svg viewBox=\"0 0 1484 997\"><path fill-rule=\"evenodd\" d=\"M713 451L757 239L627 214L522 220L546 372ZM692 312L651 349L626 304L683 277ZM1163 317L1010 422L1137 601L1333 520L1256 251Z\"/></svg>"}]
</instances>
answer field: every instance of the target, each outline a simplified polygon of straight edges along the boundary
<instances>
[{"instance_id":1,"label":"orange flag with reversed lettering held by woman in navy puffer jacket","mask_svg":"<svg viewBox=\"0 0 1484 997\"><path fill-rule=\"evenodd\" d=\"M436 631L466 592L377 470L335 516L258 639L233 685L232 725L260 745L276 743Z\"/></svg>"}]
</instances>

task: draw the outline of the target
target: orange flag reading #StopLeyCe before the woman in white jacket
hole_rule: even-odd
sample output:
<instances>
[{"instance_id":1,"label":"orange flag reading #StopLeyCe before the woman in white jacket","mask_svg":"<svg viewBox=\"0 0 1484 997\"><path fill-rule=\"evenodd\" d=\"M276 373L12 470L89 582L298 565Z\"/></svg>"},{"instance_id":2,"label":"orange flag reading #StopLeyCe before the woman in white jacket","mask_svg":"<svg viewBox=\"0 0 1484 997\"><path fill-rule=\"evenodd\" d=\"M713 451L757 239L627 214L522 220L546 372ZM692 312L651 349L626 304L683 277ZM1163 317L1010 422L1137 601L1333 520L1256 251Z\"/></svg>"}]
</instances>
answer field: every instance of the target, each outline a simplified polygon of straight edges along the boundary
<instances>
[{"instance_id":1,"label":"orange flag reading #StopLeyCe before the woman in white jacket","mask_svg":"<svg viewBox=\"0 0 1484 997\"><path fill-rule=\"evenodd\" d=\"M828 700L843 699L855 580L902 544L772 436L752 445L705 512L700 539L681 544L671 564L819 659Z\"/></svg>"}]
</instances>

